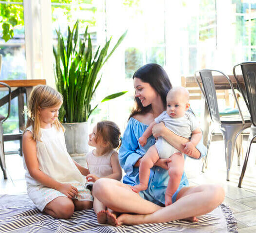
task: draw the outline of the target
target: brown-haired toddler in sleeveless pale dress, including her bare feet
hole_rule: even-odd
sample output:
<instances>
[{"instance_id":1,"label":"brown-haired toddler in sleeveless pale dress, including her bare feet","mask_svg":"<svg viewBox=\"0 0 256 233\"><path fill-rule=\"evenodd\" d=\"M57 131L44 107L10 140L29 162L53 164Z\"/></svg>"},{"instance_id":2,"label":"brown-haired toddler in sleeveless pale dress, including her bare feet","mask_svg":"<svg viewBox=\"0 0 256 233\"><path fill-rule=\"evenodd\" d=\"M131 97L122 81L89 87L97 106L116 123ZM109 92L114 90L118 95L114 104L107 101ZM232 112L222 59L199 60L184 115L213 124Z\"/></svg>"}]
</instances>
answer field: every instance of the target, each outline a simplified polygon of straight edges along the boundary
<instances>
[{"instance_id":1,"label":"brown-haired toddler in sleeveless pale dress, including her bare feet","mask_svg":"<svg viewBox=\"0 0 256 233\"><path fill-rule=\"evenodd\" d=\"M120 146L120 129L111 121L98 122L89 135L88 144L95 147L86 155L90 174L88 181L95 182L100 178L122 179L122 169L118 160L118 153L114 150ZM116 225L116 215L106 209L97 198L94 198L93 208L99 223Z\"/></svg>"}]
</instances>

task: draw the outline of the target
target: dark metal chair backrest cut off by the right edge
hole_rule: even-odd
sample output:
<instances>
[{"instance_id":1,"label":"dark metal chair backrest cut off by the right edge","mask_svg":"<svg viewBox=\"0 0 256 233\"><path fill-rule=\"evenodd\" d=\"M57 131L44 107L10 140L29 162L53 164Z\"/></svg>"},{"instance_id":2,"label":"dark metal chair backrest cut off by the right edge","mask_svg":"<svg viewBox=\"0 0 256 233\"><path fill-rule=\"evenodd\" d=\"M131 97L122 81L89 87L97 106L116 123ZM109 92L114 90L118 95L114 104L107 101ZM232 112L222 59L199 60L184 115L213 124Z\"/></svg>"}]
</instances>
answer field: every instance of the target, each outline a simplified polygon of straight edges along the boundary
<instances>
[{"instance_id":1,"label":"dark metal chair backrest cut off by the right edge","mask_svg":"<svg viewBox=\"0 0 256 233\"><path fill-rule=\"evenodd\" d=\"M244 85L239 82L236 76L235 69L237 66L241 67ZM256 62L240 63L234 67L233 72L244 101L249 109L252 123L256 126Z\"/></svg>"}]
</instances>

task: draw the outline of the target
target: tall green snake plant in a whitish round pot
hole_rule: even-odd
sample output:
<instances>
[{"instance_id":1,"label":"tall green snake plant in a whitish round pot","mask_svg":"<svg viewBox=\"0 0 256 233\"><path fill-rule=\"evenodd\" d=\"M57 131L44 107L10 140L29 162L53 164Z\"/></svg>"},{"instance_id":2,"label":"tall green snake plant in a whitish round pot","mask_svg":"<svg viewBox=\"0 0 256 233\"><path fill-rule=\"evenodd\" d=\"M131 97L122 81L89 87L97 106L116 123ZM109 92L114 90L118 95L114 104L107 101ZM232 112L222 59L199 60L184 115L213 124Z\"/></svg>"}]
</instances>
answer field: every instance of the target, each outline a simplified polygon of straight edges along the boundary
<instances>
[{"instance_id":1,"label":"tall green snake plant in a whitish round pot","mask_svg":"<svg viewBox=\"0 0 256 233\"><path fill-rule=\"evenodd\" d=\"M63 95L63 105L59 119L66 128L65 140L71 156L83 156L88 152L88 118L98 105L91 107L91 100L101 78L97 78L102 66L126 36L125 32L108 54L110 40L103 48L92 50L88 26L83 38L78 34L78 21L71 31L68 27L68 38L65 45L60 31L56 31L58 43L54 50L55 81L57 90ZM102 102L114 99L126 93L118 92L105 97Z\"/></svg>"}]
</instances>

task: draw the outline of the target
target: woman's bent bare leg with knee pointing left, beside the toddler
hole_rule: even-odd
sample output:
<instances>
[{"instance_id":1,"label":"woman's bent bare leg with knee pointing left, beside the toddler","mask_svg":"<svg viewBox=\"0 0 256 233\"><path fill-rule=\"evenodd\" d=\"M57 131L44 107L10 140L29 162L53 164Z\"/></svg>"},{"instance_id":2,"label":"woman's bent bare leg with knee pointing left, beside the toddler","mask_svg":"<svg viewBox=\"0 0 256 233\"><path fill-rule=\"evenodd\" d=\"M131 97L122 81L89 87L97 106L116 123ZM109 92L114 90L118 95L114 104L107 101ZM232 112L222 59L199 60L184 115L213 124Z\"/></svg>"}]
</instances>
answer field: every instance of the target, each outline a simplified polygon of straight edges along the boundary
<instances>
[{"instance_id":1,"label":"woman's bent bare leg with knee pointing left, beside the toddler","mask_svg":"<svg viewBox=\"0 0 256 233\"><path fill-rule=\"evenodd\" d=\"M134 193L130 185L115 179L101 178L93 184L93 195L105 206L119 213L151 214L161 209Z\"/></svg>"}]
</instances>

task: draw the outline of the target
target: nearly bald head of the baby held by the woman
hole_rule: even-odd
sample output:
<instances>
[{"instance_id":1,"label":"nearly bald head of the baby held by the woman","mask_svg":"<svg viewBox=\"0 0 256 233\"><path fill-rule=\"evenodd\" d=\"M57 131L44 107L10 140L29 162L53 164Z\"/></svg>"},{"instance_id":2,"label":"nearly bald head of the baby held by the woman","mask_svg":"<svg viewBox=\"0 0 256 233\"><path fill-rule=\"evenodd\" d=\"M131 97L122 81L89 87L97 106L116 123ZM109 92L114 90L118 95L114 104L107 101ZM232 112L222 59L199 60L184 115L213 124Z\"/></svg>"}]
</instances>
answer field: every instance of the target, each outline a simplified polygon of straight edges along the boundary
<instances>
[{"instance_id":1,"label":"nearly bald head of the baby held by the woman","mask_svg":"<svg viewBox=\"0 0 256 233\"><path fill-rule=\"evenodd\" d=\"M166 112L172 118L184 116L189 108L189 92L183 87L173 87L166 96Z\"/></svg>"}]
</instances>

